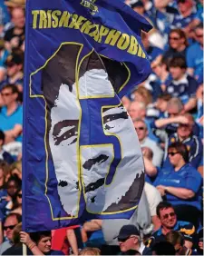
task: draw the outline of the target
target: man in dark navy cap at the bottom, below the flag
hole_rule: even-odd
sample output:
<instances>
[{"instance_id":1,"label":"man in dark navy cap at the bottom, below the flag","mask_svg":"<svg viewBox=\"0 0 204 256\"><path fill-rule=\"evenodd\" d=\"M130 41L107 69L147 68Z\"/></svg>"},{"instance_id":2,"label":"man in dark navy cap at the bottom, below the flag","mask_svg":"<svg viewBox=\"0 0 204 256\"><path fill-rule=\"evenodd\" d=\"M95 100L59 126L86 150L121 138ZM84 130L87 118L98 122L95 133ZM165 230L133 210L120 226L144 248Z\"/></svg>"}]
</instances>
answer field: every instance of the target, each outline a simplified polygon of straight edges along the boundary
<instances>
[{"instance_id":1,"label":"man in dark navy cap at the bottom, below the flag","mask_svg":"<svg viewBox=\"0 0 204 256\"><path fill-rule=\"evenodd\" d=\"M127 255L129 250L139 251L141 255L151 255L151 250L142 242L140 231L134 225L124 225L118 235L121 255Z\"/></svg>"}]
</instances>

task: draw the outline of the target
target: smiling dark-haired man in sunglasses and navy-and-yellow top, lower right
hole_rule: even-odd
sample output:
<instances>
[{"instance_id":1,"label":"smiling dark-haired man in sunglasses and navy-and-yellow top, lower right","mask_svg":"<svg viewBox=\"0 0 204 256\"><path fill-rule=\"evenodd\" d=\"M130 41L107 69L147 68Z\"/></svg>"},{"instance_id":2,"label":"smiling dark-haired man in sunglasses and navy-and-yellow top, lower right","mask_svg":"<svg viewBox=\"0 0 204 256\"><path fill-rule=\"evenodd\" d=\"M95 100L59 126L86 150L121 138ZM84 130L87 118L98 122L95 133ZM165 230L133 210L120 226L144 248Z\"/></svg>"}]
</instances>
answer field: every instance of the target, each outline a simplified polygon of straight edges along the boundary
<instances>
[{"instance_id":1,"label":"smiling dark-haired man in sunglasses and navy-and-yellow top, lower right","mask_svg":"<svg viewBox=\"0 0 204 256\"><path fill-rule=\"evenodd\" d=\"M158 231L152 234L147 246L152 248L155 243L165 241L166 235L170 231L180 231L184 237L185 246L189 249L192 247L196 234L195 227L189 222L178 221L174 207L170 202L160 202L157 206L157 215L161 226Z\"/></svg>"}]
</instances>

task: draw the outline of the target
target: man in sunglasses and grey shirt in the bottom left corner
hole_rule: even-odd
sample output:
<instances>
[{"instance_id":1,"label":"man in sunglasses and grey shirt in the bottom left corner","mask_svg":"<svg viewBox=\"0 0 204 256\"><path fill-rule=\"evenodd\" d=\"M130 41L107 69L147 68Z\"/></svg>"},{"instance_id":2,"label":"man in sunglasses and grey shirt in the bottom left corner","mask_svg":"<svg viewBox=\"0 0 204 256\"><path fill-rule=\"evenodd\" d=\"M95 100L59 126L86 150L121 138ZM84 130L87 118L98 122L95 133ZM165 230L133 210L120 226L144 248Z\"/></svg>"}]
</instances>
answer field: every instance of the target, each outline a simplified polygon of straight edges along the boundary
<instances>
[{"instance_id":1,"label":"man in sunglasses and grey shirt in the bottom left corner","mask_svg":"<svg viewBox=\"0 0 204 256\"><path fill-rule=\"evenodd\" d=\"M13 241L13 231L15 226L22 221L21 215L17 213L10 213L5 218L5 223L3 224L3 230L5 233L5 241L3 241L2 244L0 244L0 255L7 250L8 248L12 247ZM3 233L0 232L0 236L3 236ZM1 238L0 238L1 241Z\"/></svg>"}]
</instances>

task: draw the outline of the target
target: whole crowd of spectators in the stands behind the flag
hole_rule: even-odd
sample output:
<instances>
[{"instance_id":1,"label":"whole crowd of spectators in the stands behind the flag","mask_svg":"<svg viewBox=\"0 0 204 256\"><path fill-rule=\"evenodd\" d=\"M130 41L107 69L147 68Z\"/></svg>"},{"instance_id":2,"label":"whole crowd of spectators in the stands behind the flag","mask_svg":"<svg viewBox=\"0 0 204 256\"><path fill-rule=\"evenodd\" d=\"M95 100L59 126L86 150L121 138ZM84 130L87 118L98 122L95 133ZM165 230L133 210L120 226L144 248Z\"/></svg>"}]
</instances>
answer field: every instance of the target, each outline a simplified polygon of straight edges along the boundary
<instances>
[{"instance_id":1,"label":"whole crowd of spectators in the stands behind the flag","mask_svg":"<svg viewBox=\"0 0 204 256\"><path fill-rule=\"evenodd\" d=\"M112 0L113 1L113 0ZM114 0L116 1L116 0ZM149 78L122 103L146 180L130 220L22 231L25 0L0 0L0 254L203 254L203 2L126 0L153 29L141 33Z\"/></svg>"}]
</instances>

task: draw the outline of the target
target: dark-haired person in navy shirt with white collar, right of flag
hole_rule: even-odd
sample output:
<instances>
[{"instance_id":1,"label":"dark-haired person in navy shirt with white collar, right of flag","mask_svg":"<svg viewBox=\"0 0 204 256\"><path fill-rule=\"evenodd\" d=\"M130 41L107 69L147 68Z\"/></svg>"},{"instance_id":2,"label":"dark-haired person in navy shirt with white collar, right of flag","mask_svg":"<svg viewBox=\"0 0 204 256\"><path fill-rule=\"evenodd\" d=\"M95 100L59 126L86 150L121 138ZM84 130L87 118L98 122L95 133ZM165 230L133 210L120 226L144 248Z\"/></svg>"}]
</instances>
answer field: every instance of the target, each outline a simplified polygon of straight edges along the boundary
<instances>
[{"instance_id":1,"label":"dark-haired person in navy shirt with white collar, right of flag","mask_svg":"<svg viewBox=\"0 0 204 256\"><path fill-rule=\"evenodd\" d=\"M186 73L187 64L184 57L174 57L170 60L170 74L173 78L166 88L166 93L179 97L184 103L184 111L189 112L196 107L197 81Z\"/></svg>"}]
</instances>

